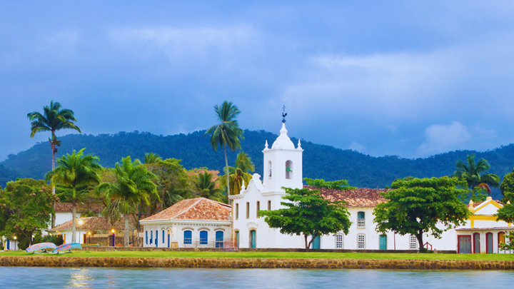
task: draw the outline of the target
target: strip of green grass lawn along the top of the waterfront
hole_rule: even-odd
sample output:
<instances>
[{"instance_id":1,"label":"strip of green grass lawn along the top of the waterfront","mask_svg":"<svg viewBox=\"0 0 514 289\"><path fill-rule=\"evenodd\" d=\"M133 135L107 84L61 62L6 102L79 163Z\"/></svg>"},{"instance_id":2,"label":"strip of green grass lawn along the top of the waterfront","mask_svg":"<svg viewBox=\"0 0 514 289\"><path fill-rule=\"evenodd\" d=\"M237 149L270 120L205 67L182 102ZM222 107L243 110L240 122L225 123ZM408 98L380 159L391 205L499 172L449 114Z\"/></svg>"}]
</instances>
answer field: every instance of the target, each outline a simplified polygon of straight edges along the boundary
<instances>
[{"instance_id":1,"label":"strip of green grass lawn along the top of the waterfront","mask_svg":"<svg viewBox=\"0 0 514 289\"><path fill-rule=\"evenodd\" d=\"M25 252L0 252L0 256L28 256ZM136 258L326 258L326 259L403 259L403 260L514 260L514 254L416 254L416 253L323 253L323 252L90 252L51 255L66 257L136 257Z\"/></svg>"}]
</instances>

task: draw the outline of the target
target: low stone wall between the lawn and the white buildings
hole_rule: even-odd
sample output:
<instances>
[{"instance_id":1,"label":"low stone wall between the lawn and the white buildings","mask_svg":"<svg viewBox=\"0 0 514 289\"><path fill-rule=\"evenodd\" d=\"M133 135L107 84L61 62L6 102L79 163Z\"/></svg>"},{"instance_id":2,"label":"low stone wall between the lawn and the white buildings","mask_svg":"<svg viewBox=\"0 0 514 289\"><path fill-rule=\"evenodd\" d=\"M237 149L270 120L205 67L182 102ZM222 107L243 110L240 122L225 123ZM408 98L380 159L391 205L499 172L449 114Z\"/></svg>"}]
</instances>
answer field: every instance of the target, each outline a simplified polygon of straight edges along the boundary
<instances>
[{"instance_id":1,"label":"low stone wall between the lawn and the white buildings","mask_svg":"<svg viewBox=\"0 0 514 289\"><path fill-rule=\"evenodd\" d=\"M221 248L159 248L159 247L84 247L84 250L95 252L111 251L163 251L163 252L224 252ZM305 249L282 248L239 248L239 252L305 252ZM309 252L323 253L419 253L418 250L345 250L345 249L311 249ZM456 254L456 250L435 250L434 253Z\"/></svg>"}]
</instances>

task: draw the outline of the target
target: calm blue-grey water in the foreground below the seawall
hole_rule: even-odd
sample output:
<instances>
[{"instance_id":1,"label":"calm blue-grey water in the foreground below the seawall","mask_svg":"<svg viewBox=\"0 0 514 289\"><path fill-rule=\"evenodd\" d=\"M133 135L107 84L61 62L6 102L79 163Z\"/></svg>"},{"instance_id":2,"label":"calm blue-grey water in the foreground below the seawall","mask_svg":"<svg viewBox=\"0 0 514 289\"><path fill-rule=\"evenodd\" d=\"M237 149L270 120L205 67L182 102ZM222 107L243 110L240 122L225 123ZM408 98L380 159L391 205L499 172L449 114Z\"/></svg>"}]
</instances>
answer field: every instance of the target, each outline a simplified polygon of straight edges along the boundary
<instances>
[{"instance_id":1,"label":"calm blue-grey water in the foreground below the seawall","mask_svg":"<svg viewBox=\"0 0 514 289\"><path fill-rule=\"evenodd\" d=\"M0 288L513 288L514 272L0 267Z\"/></svg>"}]
</instances>

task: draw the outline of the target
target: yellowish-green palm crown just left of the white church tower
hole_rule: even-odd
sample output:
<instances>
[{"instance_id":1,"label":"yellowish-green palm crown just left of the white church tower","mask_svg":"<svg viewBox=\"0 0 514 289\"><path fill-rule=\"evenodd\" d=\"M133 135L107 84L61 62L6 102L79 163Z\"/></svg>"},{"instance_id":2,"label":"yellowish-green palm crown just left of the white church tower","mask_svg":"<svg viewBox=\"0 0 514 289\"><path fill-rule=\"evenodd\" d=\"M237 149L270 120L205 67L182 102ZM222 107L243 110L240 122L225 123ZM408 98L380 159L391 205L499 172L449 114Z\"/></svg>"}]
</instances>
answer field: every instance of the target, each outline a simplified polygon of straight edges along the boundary
<instances>
[{"instance_id":1,"label":"yellowish-green palm crown just left of the white church tower","mask_svg":"<svg viewBox=\"0 0 514 289\"><path fill-rule=\"evenodd\" d=\"M237 195L241 192L241 186L243 186L243 183L246 183L246 186L248 186L248 183L250 183L250 180L252 178L251 172L255 171L255 166L253 166L253 162L251 161L251 158L241 151L241 153L238 153L238 156L236 158L236 166L228 167L228 176L230 178L230 189L232 191L233 195ZM225 182L226 176L221 176L220 181Z\"/></svg>"}]
</instances>

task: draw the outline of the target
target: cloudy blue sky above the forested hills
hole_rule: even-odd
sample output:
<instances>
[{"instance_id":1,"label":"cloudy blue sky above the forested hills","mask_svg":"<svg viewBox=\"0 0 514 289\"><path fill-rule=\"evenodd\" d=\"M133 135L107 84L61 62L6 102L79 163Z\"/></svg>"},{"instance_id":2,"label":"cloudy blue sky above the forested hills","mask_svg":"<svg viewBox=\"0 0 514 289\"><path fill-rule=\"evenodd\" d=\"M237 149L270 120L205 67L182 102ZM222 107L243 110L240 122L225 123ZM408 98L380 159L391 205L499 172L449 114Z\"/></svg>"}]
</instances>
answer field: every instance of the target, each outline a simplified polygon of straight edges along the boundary
<instances>
[{"instance_id":1,"label":"cloudy blue sky above the forested hills","mask_svg":"<svg viewBox=\"0 0 514 289\"><path fill-rule=\"evenodd\" d=\"M0 161L52 99L88 134L204 129L227 99L373 156L514 143L512 1L76 2L1 4Z\"/></svg>"}]
</instances>

